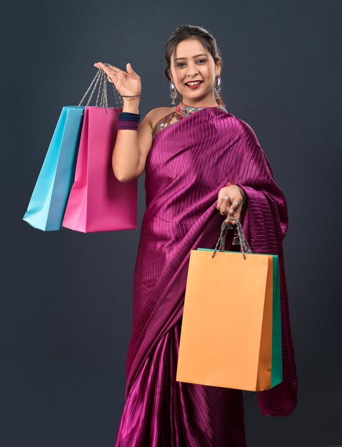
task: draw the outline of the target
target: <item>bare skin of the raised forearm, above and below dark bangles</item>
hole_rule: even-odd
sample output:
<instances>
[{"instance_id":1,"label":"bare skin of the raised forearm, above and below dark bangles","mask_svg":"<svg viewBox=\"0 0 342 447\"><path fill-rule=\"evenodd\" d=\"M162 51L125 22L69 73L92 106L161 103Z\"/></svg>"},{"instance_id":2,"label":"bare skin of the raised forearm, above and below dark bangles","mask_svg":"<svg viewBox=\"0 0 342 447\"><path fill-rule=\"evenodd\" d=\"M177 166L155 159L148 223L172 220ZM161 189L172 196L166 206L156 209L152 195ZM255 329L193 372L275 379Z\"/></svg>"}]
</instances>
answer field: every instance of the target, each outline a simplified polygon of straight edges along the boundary
<instances>
[{"instance_id":1,"label":"bare skin of the raised forearm, above and below dark bangles","mask_svg":"<svg viewBox=\"0 0 342 447\"><path fill-rule=\"evenodd\" d=\"M122 111L138 114L139 98L124 100ZM136 179L138 176L139 156L138 132L131 129L119 130L111 158L116 179L119 181Z\"/></svg>"}]
</instances>

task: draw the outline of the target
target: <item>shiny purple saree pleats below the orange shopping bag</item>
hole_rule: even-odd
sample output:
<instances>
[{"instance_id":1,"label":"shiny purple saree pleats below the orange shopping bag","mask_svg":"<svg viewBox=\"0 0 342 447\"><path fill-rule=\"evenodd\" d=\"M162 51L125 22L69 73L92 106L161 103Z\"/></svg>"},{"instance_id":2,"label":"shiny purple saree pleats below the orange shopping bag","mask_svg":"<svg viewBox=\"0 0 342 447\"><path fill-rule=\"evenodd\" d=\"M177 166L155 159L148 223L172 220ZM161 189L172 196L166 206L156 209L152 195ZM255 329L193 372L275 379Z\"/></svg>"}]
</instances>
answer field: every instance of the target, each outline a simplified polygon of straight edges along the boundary
<instances>
[{"instance_id":1,"label":"shiny purple saree pleats below the orange shopping bag","mask_svg":"<svg viewBox=\"0 0 342 447\"><path fill-rule=\"evenodd\" d=\"M181 320L146 358L121 417L116 446L246 446L241 390L176 381Z\"/></svg>"}]
</instances>

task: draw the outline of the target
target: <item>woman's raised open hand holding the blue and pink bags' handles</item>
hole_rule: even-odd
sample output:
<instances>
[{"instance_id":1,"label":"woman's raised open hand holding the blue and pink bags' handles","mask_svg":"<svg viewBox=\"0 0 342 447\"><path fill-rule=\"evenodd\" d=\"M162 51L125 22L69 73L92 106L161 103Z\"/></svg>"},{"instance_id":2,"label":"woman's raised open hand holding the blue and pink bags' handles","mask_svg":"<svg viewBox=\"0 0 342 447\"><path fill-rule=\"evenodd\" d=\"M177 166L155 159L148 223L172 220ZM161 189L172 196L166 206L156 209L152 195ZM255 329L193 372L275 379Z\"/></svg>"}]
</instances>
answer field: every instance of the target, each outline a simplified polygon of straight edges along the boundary
<instances>
[{"instance_id":1,"label":"woman's raised open hand holding the blue and pink bags' handles","mask_svg":"<svg viewBox=\"0 0 342 447\"><path fill-rule=\"evenodd\" d=\"M118 69L116 66L106 66L102 62L96 62L94 64L96 68L102 69L106 75L111 79L117 91L121 96L133 96L141 94L141 81L140 76L136 74L134 69L132 69L131 64L126 64L126 71ZM136 98L124 98L124 100L139 99Z\"/></svg>"}]
</instances>

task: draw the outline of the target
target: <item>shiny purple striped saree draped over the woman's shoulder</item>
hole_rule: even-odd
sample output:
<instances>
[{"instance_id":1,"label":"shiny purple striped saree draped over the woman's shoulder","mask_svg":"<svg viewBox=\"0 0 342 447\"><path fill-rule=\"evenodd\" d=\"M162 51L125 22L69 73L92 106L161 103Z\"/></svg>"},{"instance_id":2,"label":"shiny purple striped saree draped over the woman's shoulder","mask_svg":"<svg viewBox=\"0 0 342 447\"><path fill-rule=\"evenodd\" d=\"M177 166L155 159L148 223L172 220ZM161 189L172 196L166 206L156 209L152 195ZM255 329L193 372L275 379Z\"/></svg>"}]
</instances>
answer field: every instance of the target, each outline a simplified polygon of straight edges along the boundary
<instances>
[{"instance_id":1,"label":"shiny purple striped saree draped over the woman's shoulder","mask_svg":"<svg viewBox=\"0 0 342 447\"><path fill-rule=\"evenodd\" d=\"M282 249L286 200L251 127L207 107L156 134L146 159L126 403L115 447L246 446L241 390L176 381L190 251L215 246L225 219L216 209L217 196L228 181L247 194L241 223L251 250L279 256L283 382L258 392L258 406L269 416L288 416L296 408ZM231 238L226 250L239 249Z\"/></svg>"}]
</instances>

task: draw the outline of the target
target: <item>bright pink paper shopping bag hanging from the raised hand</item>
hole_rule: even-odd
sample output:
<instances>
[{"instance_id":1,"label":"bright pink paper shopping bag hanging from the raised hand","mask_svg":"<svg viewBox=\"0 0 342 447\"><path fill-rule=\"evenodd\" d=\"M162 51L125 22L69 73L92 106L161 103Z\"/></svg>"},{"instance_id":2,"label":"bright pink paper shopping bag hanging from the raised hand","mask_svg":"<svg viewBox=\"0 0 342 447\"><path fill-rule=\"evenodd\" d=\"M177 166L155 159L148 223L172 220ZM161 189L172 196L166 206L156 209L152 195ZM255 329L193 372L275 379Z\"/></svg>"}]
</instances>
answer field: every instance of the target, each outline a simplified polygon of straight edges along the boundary
<instances>
[{"instance_id":1,"label":"bright pink paper shopping bag hanging from the raised hand","mask_svg":"<svg viewBox=\"0 0 342 447\"><path fill-rule=\"evenodd\" d=\"M93 106L84 111L75 180L62 222L65 228L84 233L137 228L138 181L120 182L111 166L121 111Z\"/></svg>"}]
</instances>

